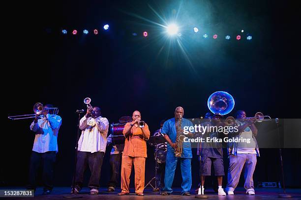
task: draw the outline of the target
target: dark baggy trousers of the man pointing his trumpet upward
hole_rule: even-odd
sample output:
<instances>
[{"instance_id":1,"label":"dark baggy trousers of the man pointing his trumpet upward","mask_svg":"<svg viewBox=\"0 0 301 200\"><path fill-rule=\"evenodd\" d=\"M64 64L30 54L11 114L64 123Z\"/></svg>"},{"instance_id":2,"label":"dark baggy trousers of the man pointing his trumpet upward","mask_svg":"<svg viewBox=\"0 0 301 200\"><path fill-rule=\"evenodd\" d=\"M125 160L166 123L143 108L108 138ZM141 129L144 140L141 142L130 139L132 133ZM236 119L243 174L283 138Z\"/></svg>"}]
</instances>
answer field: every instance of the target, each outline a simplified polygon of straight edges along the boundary
<instances>
[{"instance_id":1,"label":"dark baggy trousers of the man pointing his trumpet upward","mask_svg":"<svg viewBox=\"0 0 301 200\"><path fill-rule=\"evenodd\" d=\"M102 151L97 151L94 153L85 152L85 151L77 152L75 187L79 191L83 187L84 173L86 171L88 164L91 172L88 187L90 189L99 188L99 179L100 179L101 165L103 162L103 156L104 156L104 152Z\"/></svg>"}]
</instances>

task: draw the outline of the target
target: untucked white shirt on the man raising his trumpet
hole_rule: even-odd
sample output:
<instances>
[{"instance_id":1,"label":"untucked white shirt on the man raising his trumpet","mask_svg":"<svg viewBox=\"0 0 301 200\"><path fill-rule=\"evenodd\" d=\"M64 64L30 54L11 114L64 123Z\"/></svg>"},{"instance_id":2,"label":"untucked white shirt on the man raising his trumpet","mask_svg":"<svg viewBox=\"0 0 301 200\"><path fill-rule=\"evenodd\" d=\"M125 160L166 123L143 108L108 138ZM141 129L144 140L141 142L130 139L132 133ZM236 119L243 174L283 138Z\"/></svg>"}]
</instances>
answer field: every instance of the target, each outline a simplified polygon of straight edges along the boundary
<instances>
[{"instance_id":1,"label":"untucked white shirt on the man raising his trumpet","mask_svg":"<svg viewBox=\"0 0 301 200\"><path fill-rule=\"evenodd\" d=\"M109 121L101 116L93 119L84 116L80 120L82 134L78 140L78 150L87 152L106 151Z\"/></svg>"}]
</instances>

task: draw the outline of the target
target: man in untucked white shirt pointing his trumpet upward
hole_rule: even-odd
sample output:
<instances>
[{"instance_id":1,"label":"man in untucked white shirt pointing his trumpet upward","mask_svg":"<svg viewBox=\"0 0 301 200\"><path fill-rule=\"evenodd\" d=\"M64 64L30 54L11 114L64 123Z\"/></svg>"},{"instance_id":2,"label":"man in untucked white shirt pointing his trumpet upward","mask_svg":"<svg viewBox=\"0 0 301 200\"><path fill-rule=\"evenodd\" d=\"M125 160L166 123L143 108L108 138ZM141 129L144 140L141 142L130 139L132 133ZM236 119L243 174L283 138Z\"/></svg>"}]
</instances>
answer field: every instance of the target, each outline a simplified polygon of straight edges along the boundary
<instances>
[{"instance_id":1,"label":"man in untucked white shirt pointing his trumpet upward","mask_svg":"<svg viewBox=\"0 0 301 200\"><path fill-rule=\"evenodd\" d=\"M83 184L84 172L87 164L90 167L89 188L90 195L97 195L100 171L104 152L107 146L109 121L101 117L99 107L88 107L86 115L80 120L82 134L78 140L78 154L76 164L76 179L74 193L77 194ZM73 190L71 190L71 193Z\"/></svg>"}]
</instances>

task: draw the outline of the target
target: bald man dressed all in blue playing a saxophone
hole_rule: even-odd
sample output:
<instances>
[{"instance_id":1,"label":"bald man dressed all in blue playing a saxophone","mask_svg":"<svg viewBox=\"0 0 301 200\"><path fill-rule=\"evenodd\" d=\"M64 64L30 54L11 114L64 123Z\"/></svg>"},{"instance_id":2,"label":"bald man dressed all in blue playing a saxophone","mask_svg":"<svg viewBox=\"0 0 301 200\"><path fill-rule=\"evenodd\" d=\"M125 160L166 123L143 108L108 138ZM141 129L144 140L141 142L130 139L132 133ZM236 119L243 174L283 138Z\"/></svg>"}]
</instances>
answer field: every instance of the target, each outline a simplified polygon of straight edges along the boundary
<instances>
[{"instance_id":1,"label":"bald man dressed all in blue playing a saxophone","mask_svg":"<svg viewBox=\"0 0 301 200\"><path fill-rule=\"evenodd\" d=\"M177 107L175 110L175 118L167 120L161 128L161 133L164 134L164 138L167 141L167 155L165 166L165 178L164 189L161 195L170 195L172 190L172 184L175 176L178 160L181 162L181 195L190 196L189 191L191 188L191 146L190 143L182 142L184 136L192 137L192 133L187 135L183 134L184 126L193 126L192 123L182 118L184 109Z\"/></svg>"}]
</instances>

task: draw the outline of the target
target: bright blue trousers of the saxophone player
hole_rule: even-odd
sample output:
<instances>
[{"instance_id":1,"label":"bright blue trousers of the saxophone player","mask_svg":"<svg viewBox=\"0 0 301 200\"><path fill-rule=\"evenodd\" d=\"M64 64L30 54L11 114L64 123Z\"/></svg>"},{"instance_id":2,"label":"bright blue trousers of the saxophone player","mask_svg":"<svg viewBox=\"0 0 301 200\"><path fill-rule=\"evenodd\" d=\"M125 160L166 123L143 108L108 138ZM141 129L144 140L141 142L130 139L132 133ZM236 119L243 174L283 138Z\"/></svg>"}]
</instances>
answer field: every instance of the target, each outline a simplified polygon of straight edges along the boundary
<instances>
[{"instance_id":1,"label":"bright blue trousers of the saxophone player","mask_svg":"<svg viewBox=\"0 0 301 200\"><path fill-rule=\"evenodd\" d=\"M192 184L191 180L191 158L177 158L174 154L167 153L166 155L166 166L165 166L165 177L164 177L164 191L172 193L172 184L174 181L175 171L178 160L181 162L181 194L189 192Z\"/></svg>"}]
</instances>

